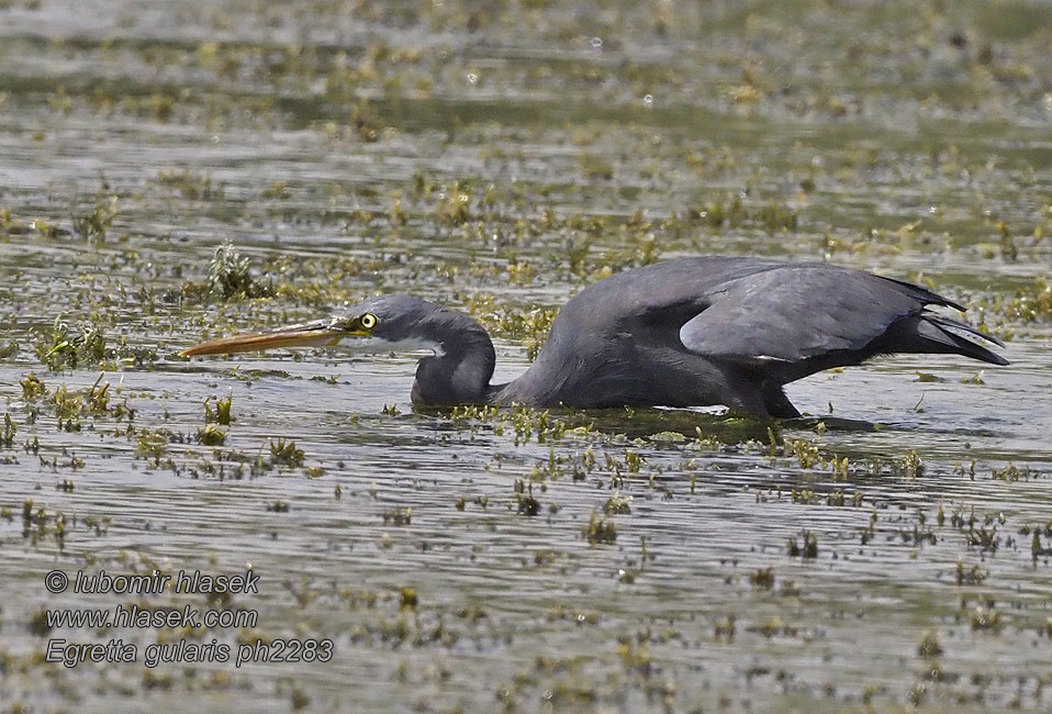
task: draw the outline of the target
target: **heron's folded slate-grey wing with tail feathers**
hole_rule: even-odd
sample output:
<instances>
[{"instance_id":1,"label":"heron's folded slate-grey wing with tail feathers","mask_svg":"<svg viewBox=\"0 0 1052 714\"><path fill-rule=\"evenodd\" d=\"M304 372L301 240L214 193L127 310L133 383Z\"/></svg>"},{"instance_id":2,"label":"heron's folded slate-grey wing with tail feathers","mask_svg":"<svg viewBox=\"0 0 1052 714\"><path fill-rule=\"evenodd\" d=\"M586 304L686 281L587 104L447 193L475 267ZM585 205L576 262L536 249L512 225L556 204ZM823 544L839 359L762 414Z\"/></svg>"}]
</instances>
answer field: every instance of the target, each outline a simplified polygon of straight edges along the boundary
<instances>
[{"instance_id":1,"label":"heron's folded slate-grey wing with tail feathers","mask_svg":"<svg viewBox=\"0 0 1052 714\"><path fill-rule=\"evenodd\" d=\"M930 290L822 264L782 265L729 281L680 328L691 352L762 367L783 383L878 354L949 353L1005 365L967 339L999 344L969 325L926 310L963 310ZM959 334L959 333L963 333Z\"/></svg>"}]
</instances>

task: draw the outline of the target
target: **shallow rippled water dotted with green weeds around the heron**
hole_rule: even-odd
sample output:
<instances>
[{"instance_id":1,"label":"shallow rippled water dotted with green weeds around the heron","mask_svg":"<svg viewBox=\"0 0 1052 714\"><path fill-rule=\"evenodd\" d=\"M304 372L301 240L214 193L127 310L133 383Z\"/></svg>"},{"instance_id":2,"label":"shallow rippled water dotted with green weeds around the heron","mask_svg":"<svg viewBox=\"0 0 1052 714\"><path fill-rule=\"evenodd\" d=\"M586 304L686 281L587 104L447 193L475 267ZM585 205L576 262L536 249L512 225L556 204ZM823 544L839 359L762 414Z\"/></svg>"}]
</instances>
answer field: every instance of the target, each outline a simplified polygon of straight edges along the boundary
<instances>
[{"instance_id":1,"label":"shallow rippled water dotted with green weeds around the heron","mask_svg":"<svg viewBox=\"0 0 1052 714\"><path fill-rule=\"evenodd\" d=\"M1043 4L0 4L4 711L1052 704ZM209 291L225 242L266 297ZM769 432L414 413L413 355L177 356L405 291L482 320L507 379L538 311L700 253L929 281L1012 365L818 375ZM211 604L44 589L249 566ZM42 626L133 603L258 622ZM144 663L213 638L333 657Z\"/></svg>"}]
</instances>

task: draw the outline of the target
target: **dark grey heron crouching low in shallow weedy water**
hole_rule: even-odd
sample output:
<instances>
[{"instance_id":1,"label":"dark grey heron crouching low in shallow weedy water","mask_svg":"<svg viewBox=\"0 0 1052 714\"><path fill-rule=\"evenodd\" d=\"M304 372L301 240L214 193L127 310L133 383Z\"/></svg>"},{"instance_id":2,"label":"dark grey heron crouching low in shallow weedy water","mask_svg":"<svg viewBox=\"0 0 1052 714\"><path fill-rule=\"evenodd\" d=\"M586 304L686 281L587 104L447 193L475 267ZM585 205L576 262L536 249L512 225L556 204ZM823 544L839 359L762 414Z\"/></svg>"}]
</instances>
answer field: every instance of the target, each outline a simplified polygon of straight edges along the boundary
<instances>
[{"instance_id":1,"label":"dark grey heron crouching low in shallow weedy water","mask_svg":"<svg viewBox=\"0 0 1052 714\"><path fill-rule=\"evenodd\" d=\"M382 352L430 349L416 368L417 405L600 408L723 404L796 417L783 386L876 355L963 355L1008 360L969 337L995 337L930 305L964 309L910 282L818 263L681 258L585 288L556 316L536 361L491 384L485 328L461 312L403 294L370 298L332 317L203 343L186 356L335 345L354 337Z\"/></svg>"}]
</instances>

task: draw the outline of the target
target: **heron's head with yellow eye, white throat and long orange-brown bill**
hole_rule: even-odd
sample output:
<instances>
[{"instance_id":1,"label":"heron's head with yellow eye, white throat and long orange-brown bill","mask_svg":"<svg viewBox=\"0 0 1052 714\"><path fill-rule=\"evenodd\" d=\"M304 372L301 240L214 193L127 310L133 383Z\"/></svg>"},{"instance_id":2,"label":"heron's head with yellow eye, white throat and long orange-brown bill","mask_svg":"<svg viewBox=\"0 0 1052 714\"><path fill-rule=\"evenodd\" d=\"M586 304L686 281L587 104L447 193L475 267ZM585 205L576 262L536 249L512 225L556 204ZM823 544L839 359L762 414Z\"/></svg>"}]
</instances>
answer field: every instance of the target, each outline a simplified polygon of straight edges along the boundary
<instances>
[{"instance_id":1,"label":"heron's head with yellow eye, white throat and long orange-brown bill","mask_svg":"<svg viewBox=\"0 0 1052 714\"><path fill-rule=\"evenodd\" d=\"M227 355L280 347L328 347L344 338L356 352L407 352L430 349L444 353L440 342L441 313L433 302L403 294L363 300L331 317L266 332L222 337L182 350L184 357Z\"/></svg>"}]
</instances>

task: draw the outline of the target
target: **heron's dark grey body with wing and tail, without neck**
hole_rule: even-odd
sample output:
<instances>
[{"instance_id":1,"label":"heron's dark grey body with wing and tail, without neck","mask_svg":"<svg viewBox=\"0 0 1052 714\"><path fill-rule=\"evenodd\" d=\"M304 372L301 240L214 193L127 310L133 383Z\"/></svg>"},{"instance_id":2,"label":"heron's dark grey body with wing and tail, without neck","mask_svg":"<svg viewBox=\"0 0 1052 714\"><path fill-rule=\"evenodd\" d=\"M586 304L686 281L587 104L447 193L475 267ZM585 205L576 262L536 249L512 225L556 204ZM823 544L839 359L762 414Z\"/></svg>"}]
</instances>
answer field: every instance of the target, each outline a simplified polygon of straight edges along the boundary
<instances>
[{"instance_id":1,"label":"heron's dark grey body with wing and tail, without neck","mask_svg":"<svg viewBox=\"0 0 1052 714\"><path fill-rule=\"evenodd\" d=\"M820 263L693 257L620 272L556 316L537 360L499 401L726 404L795 413L782 384L896 352L1007 364L926 311L960 305L913 283Z\"/></svg>"}]
</instances>

